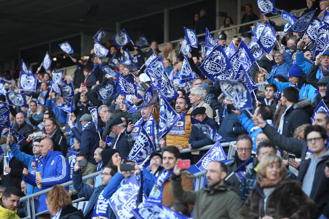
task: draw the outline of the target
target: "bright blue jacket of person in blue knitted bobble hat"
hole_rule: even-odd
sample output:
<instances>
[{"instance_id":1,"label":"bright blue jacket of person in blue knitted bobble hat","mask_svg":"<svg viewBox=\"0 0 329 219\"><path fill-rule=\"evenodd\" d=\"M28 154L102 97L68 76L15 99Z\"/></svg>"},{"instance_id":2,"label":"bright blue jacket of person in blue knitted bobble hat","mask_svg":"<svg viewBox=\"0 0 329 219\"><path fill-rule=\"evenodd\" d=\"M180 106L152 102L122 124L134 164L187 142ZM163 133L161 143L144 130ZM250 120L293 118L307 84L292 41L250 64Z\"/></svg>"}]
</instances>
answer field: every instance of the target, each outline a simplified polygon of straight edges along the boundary
<instances>
[{"instance_id":1,"label":"bright blue jacket of person in blue knitted bobble hat","mask_svg":"<svg viewBox=\"0 0 329 219\"><path fill-rule=\"evenodd\" d=\"M265 77L265 79L267 80L268 83L274 83L278 88L278 91L280 92L282 92L285 88L291 86L290 82L281 82L274 80L272 75ZM311 84L304 83L300 88L299 99L310 98L311 101L313 102L316 99L315 91L316 91L315 87L313 87Z\"/></svg>"}]
</instances>

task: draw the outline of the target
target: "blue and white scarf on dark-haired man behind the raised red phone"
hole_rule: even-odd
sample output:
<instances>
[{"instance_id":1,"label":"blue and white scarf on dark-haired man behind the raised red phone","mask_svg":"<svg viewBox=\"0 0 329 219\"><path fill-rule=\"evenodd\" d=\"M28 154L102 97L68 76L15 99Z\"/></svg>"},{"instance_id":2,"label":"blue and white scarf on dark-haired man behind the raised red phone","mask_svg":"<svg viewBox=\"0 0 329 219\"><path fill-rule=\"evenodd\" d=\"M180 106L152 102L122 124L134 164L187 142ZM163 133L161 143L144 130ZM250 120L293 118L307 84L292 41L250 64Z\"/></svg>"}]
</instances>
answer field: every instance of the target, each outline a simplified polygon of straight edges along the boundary
<instances>
[{"instance_id":1,"label":"blue and white scarf on dark-haired man behind the raised red phone","mask_svg":"<svg viewBox=\"0 0 329 219\"><path fill-rule=\"evenodd\" d=\"M156 183L152 187L150 195L145 202L145 206L149 205L160 205L162 203L162 186L164 182L172 176L173 169L170 172L167 172L165 169L159 173Z\"/></svg>"}]
</instances>

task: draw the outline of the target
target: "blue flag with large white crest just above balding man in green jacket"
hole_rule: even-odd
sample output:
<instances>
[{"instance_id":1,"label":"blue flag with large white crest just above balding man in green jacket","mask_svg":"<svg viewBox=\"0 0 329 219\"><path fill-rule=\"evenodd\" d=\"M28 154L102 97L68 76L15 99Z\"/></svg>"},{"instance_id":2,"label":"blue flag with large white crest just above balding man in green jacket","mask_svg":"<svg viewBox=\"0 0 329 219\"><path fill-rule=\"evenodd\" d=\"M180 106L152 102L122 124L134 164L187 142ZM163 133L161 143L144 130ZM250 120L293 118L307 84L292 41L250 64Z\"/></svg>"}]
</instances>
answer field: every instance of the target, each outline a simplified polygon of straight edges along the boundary
<instances>
[{"instance_id":1,"label":"blue flag with large white crest just above balding man in green jacket","mask_svg":"<svg viewBox=\"0 0 329 219\"><path fill-rule=\"evenodd\" d=\"M209 151L195 164L195 166L203 171L208 169L208 165L212 161L222 161L227 158L227 155L219 142L216 142Z\"/></svg>"}]
</instances>

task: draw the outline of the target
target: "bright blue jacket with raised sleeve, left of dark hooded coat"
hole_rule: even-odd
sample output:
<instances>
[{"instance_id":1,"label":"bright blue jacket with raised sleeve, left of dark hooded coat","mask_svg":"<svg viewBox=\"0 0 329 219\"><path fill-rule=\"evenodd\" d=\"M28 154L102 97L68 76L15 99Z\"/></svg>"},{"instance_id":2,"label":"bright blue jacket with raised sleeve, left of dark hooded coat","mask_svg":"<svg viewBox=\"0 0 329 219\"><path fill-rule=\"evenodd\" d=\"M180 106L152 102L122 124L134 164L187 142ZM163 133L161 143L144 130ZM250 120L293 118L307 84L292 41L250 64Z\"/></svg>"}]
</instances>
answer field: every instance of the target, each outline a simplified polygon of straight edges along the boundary
<instances>
[{"instance_id":1,"label":"bright blue jacket with raised sleeve, left of dark hooded coat","mask_svg":"<svg viewBox=\"0 0 329 219\"><path fill-rule=\"evenodd\" d=\"M240 116L238 116L238 119L240 120L240 123L243 125L243 127L247 130L249 133L250 138L252 139L252 146L253 146L253 151L256 152L257 147L256 147L256 137L258 133L262 132L263 129L256 126L255 123L249 119L244 113L241 113ZM270 122L269 122L270 121ZM273 127L273 131L276 132L272 120L265 120L266 123L270 124Z\"/></svg>"}]
</instances>

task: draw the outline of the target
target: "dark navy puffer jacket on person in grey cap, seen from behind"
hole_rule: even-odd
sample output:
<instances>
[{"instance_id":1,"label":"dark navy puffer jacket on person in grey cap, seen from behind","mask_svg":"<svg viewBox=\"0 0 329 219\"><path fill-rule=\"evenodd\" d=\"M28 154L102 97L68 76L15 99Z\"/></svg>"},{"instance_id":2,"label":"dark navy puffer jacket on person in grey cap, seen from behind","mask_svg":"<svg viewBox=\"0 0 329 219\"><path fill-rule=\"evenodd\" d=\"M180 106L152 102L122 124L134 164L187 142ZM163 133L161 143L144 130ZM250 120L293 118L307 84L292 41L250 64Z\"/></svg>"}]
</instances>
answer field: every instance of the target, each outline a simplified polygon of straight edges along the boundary
<instances>
[{"instance_id":1,"label":"dark navy puffer jacket on person in grey cap, seen from behind","mask_svg":"<svg viewBox=\"0 0 329 219\"><path fill-rule=\"evenodd\" d=\"M75 127L72 128L75 129ZM100 135L102 136L102 129L98 128ZM75 132L73 132L76 135ZM78 139L78 138L77 138ZM81 134L80 139L80 152L83 152L87 155L88 162L92 164L97 164L94 159L94 152L96 148L99 147L99 135L96 132L96 127L94 123L87 125L85 130Z\"/></svg>"}]
</instances>

